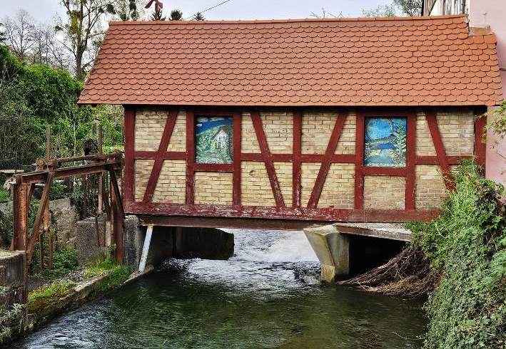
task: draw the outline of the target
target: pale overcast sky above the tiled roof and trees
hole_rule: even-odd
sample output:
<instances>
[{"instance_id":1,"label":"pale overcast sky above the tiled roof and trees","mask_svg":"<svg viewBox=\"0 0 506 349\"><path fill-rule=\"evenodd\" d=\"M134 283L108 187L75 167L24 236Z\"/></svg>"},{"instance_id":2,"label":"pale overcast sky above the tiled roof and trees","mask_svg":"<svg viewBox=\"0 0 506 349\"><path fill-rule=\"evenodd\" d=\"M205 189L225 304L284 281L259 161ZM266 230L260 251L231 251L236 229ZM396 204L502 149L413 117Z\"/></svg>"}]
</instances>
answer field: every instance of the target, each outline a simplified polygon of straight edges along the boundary
<instances>
[{"instance_id":1,"label":"pale overcast sky above the tiled roof and trees","mask_svg":"<svg viewBox=\"0 0 506 349\"><path fill-rule=\"evenodd\" d=\"M163 10L180 9L183 16L192 16L226 0L161 0ZM145 1L147 2L147 1ZM321 15L322 9L335 16L357 17L362 9L389 4L389 0L229 0L226 4L204 13L206 19L295 19L307 18L312 12ZM60 13L59 0L0 0L0 19L14 16L25 9L36 21L51 24Z\"/></svg>"}]
</instances>

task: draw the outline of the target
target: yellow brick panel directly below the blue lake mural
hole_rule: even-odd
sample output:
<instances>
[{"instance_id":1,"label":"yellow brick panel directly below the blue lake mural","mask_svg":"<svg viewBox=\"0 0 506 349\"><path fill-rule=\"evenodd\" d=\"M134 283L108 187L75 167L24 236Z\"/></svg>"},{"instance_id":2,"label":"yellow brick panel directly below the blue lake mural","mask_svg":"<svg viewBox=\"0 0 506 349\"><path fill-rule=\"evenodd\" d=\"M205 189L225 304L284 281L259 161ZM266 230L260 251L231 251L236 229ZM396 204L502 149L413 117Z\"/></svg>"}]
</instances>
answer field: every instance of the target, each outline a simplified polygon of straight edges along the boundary
<instances>
[{"instance_id":1,"label":"yellow brick panel directly below the blue lake mural","mask_svg":"<svg viewBox=\"0 0 506 349\"><path fill-rule=\"evenodd\" d=\"M405 203L405 177L364 177L364 209L405 209Z\"/></svg>"}]
</instances>

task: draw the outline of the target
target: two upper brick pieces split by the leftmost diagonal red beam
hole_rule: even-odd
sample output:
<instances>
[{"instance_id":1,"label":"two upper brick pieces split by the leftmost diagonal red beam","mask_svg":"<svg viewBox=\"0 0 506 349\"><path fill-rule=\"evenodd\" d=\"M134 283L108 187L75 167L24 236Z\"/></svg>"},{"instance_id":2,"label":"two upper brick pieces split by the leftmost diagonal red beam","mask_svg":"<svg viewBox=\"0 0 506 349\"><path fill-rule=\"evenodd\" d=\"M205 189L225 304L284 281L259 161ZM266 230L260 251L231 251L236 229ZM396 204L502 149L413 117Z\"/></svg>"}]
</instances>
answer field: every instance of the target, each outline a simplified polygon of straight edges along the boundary
<instances>
[{"instance_id":1,"label":"two upper brick pieces split by the leftmost diagonal red beam","mask_svg":"<svg viewBox=\"0 0 506 349\"><path fill-rule=\"evenodd\" d=\"M140 108L136 111L135 150L156 151L160 146L163 129L167 123L168 109ZM176 124L168 144L168 151L186 150L186 111L179 110Z\"/></svg>"}]
</instances>

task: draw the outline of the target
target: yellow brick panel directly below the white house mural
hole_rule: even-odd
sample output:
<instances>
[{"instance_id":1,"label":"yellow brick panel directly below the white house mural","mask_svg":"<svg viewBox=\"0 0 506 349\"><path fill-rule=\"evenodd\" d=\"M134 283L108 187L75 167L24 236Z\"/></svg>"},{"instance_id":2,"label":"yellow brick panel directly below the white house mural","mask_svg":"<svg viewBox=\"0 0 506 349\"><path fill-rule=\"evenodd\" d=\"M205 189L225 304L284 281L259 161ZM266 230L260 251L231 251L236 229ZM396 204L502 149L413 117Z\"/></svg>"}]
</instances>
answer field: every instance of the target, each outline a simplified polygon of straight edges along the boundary
<instances>
[{"instance_id":1,"label":"yellow brick panel directly below the white house mural","mask_svg":"<svg viewBox=\"0 0 506 349\"><path fill-rule=\"evenodd\" d=\"M232 204L232 174L226 172L196 172L196 204Z\"/></svg>"}]
</instances>

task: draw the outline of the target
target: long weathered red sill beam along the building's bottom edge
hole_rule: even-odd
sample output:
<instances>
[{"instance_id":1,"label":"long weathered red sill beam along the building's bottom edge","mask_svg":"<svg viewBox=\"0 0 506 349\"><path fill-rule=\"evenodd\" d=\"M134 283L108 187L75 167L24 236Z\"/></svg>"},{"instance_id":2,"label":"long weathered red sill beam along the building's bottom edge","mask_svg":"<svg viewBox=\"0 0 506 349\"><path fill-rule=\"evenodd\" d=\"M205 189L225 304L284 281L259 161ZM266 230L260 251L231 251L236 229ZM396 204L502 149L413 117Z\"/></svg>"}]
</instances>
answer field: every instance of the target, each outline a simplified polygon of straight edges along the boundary
<instances>
[{"instance_id":1,"label":"long weathered red sill beam along the building's bottom edge","mask_svg":"<svg viewBox=\"0 0 506 349\"><path fill-rule=\"evenodd\" d=\"M415 209L309 209L307 207L258 207L210 204L171 204L161 202L129 202L126 212L167 217L222 217L295 219L324 222L409 222L427 221L439 211Z\"/></svg>"}]
</instances>

